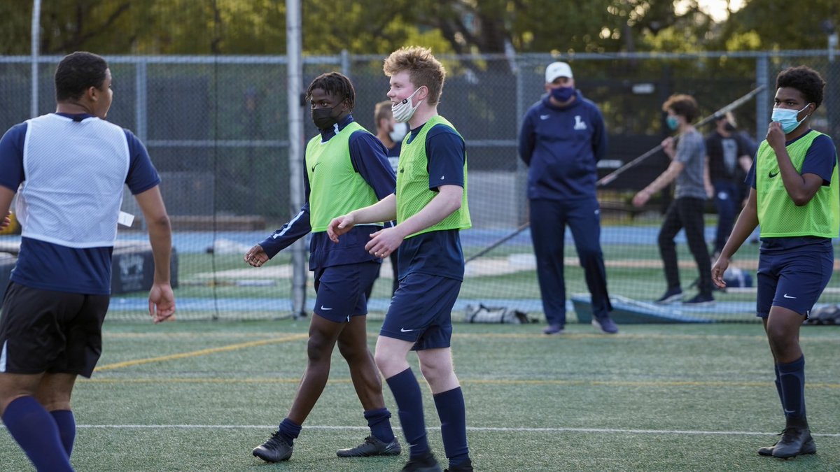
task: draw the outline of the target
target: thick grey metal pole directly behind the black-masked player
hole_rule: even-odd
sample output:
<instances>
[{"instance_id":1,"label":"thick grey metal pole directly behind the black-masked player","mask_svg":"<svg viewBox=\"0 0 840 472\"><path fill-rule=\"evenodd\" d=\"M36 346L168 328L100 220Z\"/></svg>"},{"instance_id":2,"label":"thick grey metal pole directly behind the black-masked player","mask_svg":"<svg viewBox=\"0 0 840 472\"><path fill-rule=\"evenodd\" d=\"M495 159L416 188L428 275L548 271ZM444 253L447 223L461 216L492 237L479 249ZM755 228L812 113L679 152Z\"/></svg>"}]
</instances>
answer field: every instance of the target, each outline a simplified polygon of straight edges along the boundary
<instances>
[{"instance_id":1,"label":"thick grey metal pole directly behind the black-masked player","mask_svg":"<svg viewBox=\"0 0 840 472\"><path fill-rule=\"evenodd\" d=\"M303 119L302 119L302 34L301 2L286 0L286 98L289 117L289 203L290 214L303 207ZM291 246L291 309L293 317L305 317L307 302L307 249L305 239Z\"/></svg>"}]
</instances>

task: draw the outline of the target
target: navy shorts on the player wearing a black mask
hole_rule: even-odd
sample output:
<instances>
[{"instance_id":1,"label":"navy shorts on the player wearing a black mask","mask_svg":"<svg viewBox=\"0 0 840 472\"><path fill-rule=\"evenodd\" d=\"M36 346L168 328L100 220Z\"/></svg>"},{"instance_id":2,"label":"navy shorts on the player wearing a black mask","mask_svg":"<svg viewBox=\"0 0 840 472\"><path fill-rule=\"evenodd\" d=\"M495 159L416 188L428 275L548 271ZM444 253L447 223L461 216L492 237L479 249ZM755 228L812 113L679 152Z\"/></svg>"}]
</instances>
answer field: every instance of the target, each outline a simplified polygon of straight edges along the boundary
<instances>
[{"instance_id":1,"label":"navy shorts on the player wearing a black mask","mask_svg":"<svg viewBox=\"0 0 840 472\"><path fill-rule=\"evenodd\" d=\"M335 323L367 314L365 290L379 275L381 264L333 265L315 270L315 314Z\"/></svg>"}]
</instances>

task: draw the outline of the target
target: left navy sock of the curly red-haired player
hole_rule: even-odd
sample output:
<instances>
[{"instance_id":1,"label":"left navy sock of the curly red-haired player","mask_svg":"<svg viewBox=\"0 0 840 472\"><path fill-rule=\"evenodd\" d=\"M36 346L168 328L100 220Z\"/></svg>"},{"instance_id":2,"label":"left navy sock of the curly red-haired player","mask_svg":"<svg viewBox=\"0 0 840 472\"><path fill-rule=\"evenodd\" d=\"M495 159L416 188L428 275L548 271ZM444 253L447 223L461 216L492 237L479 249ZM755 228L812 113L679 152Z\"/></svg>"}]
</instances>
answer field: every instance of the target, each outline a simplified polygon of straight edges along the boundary
<instances>
[{"instance_id":1,"label":"left navy sock of the curly red-haired player","mask_svg":"<svg viewBox=\"0 0 840 472\"><path fill-rule=\"evenodd\" d=\"M428 453L426 438L426 420L423 417L423 394L420 384L409 367L397 375L386 379L396 401L396 412L402 424L402 433L415 459Z\"/></svg>"}]
</instances>

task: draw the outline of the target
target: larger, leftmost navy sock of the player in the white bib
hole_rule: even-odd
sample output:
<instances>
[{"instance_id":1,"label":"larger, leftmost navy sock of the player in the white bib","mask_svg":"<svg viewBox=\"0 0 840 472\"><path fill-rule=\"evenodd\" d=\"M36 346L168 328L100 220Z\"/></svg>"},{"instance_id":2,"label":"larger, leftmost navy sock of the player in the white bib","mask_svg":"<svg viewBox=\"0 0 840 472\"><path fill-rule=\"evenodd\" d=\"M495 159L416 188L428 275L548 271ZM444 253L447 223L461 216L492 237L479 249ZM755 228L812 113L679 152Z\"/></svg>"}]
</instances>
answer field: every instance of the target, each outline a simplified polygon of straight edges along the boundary
<instances>
[{"instance_id":1,"label":"larger, leftmost navy sock of the player in the white bib","mask_svg":"<svg viewBox=\"0 0 840 472\"><path fill-rule=\"evenodd\" d=\"M21 396L9 403L3 412L3 422L35 469L73 470L55 420L34 397Z\"/></svg>"}]
</instances>

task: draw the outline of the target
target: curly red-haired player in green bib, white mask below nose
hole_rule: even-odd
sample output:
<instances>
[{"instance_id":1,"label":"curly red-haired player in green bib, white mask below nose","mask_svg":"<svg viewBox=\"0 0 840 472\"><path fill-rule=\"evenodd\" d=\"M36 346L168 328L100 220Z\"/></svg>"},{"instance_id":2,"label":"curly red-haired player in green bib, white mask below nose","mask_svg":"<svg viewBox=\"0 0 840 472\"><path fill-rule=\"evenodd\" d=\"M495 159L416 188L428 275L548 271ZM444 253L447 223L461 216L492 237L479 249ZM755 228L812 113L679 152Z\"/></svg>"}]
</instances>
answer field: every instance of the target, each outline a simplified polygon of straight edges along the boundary
<instances>
[{"instance_id":1,"label":"curly red-haired player in green bib, white mask below nose","mask_svg":"<svg viewBox=\"0 0 840 472\"><path fill-rule=\"evenodd\" d=\"M402 143L396 194L333 219L327 231L340 242L356 225L396 219L396 226L371 234L365 249L387 257L399 248L402 278L374 356L396 400L411 449L403 470L440 470L428 447L420 385L407 362L413 349L438 410L449 470L469 471L464 394L450 348L452 307L464 279L459 230L471 226L465 143L452 123L438 115L446 71L430 50L396 50L383 70L391 77L388 97L394 118L411 128Z\"/></svg>"}]
</instances>

